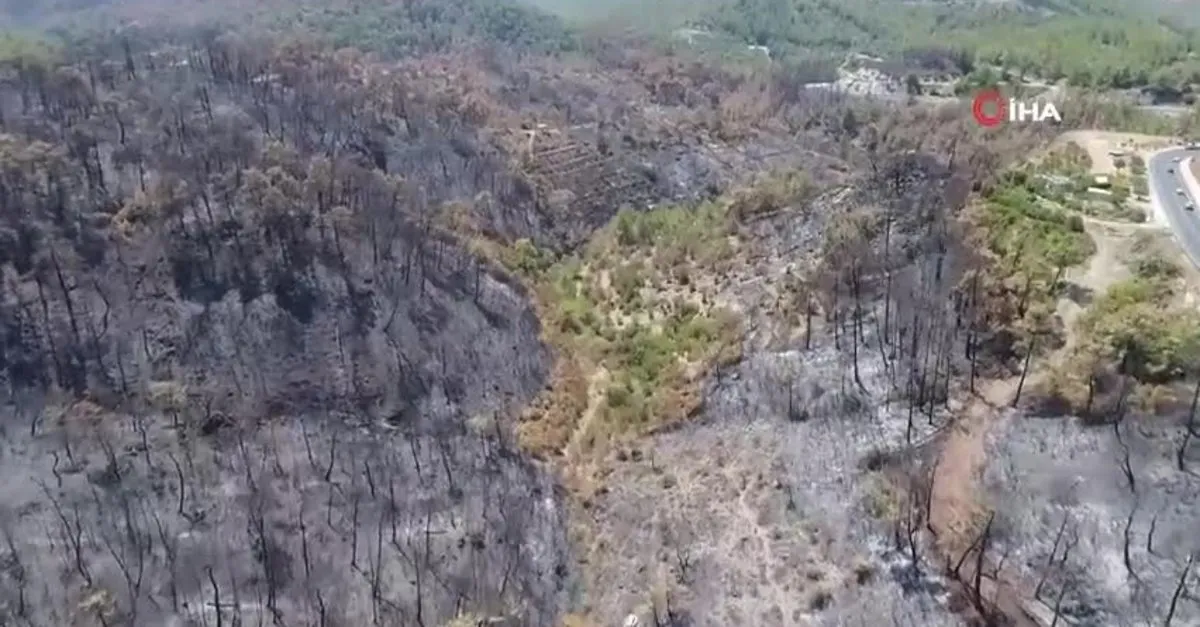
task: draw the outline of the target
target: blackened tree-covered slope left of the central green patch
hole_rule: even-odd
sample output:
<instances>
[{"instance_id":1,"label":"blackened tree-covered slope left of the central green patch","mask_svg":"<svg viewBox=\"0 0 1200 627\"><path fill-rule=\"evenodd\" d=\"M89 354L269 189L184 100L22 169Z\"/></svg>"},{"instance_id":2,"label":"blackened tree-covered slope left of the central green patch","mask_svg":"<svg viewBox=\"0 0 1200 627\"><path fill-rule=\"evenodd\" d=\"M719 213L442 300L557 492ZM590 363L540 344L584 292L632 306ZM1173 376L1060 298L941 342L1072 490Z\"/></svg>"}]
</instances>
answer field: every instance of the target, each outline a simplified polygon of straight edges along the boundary
<instances>
[{"instance_id":1,"label":"blackened tree-covered slope left of the central green patch","mask_svg":"<svg viewBox=\"0 0 1200 627\"><path fill-rule=\"evenodd\" d=\"M755 149L683 155L649 118L584 135L599 172L542 191L644 183L581 220L470 64L110 46L4 74L6 620L554 623L564 502L508 424L550 356L467 247L570 247Z\"/></svg>"}]
</instances>

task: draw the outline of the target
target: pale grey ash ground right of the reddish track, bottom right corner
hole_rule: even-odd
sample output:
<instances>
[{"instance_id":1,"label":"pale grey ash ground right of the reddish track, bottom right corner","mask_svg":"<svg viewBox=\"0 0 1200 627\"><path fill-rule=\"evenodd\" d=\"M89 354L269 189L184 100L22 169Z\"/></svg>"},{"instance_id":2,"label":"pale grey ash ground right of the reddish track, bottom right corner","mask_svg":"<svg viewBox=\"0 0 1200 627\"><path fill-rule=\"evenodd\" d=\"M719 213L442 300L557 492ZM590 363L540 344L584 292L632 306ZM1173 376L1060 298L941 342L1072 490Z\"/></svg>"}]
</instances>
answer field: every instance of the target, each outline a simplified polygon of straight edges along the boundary
<instances>
[{"instance_id":1,"label":"pale grey ash ground right of the reddish track, bottom right corner","mask_svg":"<svg viewBox=\"0 0 1200 627\"><path fill-rule=\"evenodd\" d=\"M1200 479L1175 458L1181 424L1130 417L1120 438L1072 417L1010 412L1001 424L984 482L1008 562L1032 585L1044 581L1046 603L1061 593L1074 625L1162 625L1200 549ZM1195 585L1193 571L1171 625L1200 622Z\"/></svg>"}]
</instances>

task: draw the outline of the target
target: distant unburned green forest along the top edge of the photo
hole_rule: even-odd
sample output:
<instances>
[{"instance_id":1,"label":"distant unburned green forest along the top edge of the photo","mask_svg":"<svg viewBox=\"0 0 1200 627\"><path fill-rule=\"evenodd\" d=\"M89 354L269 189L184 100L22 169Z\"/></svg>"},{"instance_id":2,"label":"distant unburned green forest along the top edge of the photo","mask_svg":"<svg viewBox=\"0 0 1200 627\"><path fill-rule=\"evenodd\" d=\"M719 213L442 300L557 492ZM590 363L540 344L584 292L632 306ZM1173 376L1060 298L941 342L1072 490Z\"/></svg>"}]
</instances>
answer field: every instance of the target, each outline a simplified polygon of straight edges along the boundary
<instances>
[{"instance_id":1,"label":"distant unburned green forest along the top edge of the photo","mask_svg":"<svg viewBox=\"0 0 1200 627\"><path fill-rule=\"evenodd\" d=\"M48 24L68 38L120 28L139 4L127 0L72 13L58 7ZM672 30L695 23L722 38L770 48L775 59L803 61L815 55L866 52L920 61L923 50L944 50L965 59L926 70L970 73L976 66L997 65L1015 74L1046 80L1067 79L1088 88L1157 85L1182 90L1200 83L1200 36L1160 22L1153 12L1110 0L1040 4L1030 7L912 5L881 0L728 0L703 2L679 11L653 7L614 10L605 16L568 24L556 14L516 0L414 0L410 2L274 1L253 8L206 0L180 14L161 16L175 25L208 24L221 30L265 29L278 34L306 32L346 47L389 56L444 52L469 44L498 43L521 50L562 53L581 50L587 35L602 24L629 23L640 30ZM162 12L161 7L148 14ZM649 12L650 17L647 17ZM594 13L599 13L594 12ZM686 17L685 17L686 16ZM138 23L149 17L137 14ZM928 59L926 59L928 60Z\"/></svg>"}]
</instances>

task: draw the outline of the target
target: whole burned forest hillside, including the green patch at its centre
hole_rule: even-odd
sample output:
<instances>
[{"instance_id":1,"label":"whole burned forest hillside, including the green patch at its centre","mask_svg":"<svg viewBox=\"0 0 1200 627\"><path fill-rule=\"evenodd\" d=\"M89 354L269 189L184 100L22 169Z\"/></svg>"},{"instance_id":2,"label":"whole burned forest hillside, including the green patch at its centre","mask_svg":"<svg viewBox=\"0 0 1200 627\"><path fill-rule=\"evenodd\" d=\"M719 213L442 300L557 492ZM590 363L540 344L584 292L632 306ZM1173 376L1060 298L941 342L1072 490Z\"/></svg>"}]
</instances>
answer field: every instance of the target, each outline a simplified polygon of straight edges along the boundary
<instances>
[{"instance_id":1,"label":"whole burned forest hillside, including the green patch at its centre","mask_svg":"<svg viewBox=\"0 0 1200 627\"><path fill-rule=\"evenodd\" d=\"M415 5L2 50L0 626L1200 617L1195 371L1042 374L1062 129Z\"/></svg>"}]
</instances>

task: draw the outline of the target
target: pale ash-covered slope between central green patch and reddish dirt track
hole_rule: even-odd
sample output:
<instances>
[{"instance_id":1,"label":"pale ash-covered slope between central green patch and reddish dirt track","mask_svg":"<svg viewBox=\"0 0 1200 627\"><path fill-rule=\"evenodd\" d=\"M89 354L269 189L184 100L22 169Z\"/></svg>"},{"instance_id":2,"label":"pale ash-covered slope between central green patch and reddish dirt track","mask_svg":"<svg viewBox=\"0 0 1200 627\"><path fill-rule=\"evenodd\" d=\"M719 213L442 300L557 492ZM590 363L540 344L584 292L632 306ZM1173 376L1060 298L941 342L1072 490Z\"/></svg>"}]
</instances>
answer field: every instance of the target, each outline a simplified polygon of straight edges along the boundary
<instances>
[{"instance_id":1,"label":"pale ash-covered slope between central green patch and reddish dirt track","mask_svg":"<svg viewBox=\"0 0 1200 627\"><path fill-rule=\"evenodd\" d=\"M904 202L928 202L943 183L934 174L926 192L914 184ZM895 398L890 376L895 351L880 352L871 330L883 304L864 291L857 381L850 335L839 347L833 322L814 321L805 340L772 309L834 216L872 193L841 189L742 234L756 261L721 298L746 316L744 359L714 375L695 422L622 450L608 488L589 503L604 530L598 547L616 554L589 563L604 573L593 603L606 615L712 626L964 622L938 566L914 567L895 526L880 519L881 507L894 506L882 460L928 456L949 418L938 406L910 430L910 404ZM924 273L935 271L936 253L912 261L902 252L926 249L925 233L901 225L893 237L896 285L932 281Z\"/></svg>"}]
</instances>

